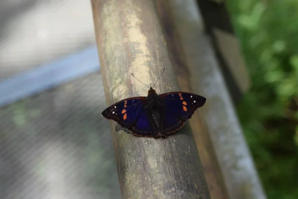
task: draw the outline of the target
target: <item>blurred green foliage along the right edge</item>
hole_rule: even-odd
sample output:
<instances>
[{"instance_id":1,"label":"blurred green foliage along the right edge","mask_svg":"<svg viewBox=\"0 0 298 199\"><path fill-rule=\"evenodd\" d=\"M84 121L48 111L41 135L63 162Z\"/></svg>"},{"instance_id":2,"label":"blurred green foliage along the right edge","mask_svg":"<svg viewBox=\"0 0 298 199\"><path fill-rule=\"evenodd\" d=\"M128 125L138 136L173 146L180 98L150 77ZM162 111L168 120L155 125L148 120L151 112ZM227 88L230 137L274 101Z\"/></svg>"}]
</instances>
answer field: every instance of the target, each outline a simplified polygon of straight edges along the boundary
<instances>
[{"instance_id":1,"label":"blurred green foliage along the right edge","mask_svg":"<svg viewBox=\"0 0 298 199\"><path fill-rule=\"evenodd\" d=\"M228 1L251 77L237 107L269 199L298 199L298 0Z\"/></svg>"}]
</instances>

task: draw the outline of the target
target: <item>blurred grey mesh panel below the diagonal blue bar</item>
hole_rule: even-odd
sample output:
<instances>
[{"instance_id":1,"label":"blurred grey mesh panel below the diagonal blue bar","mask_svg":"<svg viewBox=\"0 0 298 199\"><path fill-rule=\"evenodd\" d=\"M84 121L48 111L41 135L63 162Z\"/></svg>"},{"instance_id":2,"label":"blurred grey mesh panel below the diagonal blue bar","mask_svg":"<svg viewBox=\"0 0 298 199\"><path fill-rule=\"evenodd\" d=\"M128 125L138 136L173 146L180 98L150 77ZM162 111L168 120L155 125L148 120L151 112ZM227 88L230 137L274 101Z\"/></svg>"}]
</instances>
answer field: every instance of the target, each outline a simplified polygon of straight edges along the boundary
<instances>
[{"instance_id":1,"label":"blurred grey mesh panel below the diagonal blue bar","mask_svg":"<svg viewBox=\"0 0 298 199\"><path fill-rule=\"evenodd\" d=\"M0 108L1 199L117 199L99 73Z\"/></svg>"}]
</instances>

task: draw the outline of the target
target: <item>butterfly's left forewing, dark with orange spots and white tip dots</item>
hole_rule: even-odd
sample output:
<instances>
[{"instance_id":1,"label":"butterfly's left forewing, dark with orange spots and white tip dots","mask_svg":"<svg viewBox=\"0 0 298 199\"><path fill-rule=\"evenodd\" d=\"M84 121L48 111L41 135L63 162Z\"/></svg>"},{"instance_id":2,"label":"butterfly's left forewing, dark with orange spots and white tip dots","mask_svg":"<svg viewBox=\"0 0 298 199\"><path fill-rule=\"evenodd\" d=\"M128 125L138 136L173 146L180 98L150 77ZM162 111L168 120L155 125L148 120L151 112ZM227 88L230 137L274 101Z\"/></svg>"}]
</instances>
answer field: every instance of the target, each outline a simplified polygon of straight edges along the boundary
<instances>
[{"instance_id":1,"label":"butterfly's left forewing, dark with orange spots and white tip dots","mask_svg":"<svg viewBox=\"0 0 298 199\"><path fill-rule=\"evenodd\" d=\"M146 97L128 98L118 101L102 111L101 115L112 119L124 128L135 123L139 114L145 107Z\"/></svg>"}]
</instances>

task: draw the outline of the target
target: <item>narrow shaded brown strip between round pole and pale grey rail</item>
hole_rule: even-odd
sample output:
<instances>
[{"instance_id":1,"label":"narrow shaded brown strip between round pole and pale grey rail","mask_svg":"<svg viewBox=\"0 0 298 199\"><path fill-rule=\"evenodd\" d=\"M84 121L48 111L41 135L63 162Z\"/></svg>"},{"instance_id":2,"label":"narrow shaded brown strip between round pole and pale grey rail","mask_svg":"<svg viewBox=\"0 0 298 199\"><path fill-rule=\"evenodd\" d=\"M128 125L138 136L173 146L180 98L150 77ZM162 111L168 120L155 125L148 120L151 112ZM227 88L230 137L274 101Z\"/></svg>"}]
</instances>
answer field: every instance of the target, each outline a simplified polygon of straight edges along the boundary
<instances>
[{"instance_id":1,"label":"narrow shaded brown strip between round pole and pale grey rail","mask_svg":"<svg viewBox=\"0 0 298 199\"><path fill-rule=\"evenodd\" d=\"M174 21L172 12L174 10L168 6L168 1L170 0L155 0L161 25L164 29L167 47L181 91L194 93L192 85L190 85L191 74L187 68L187 62L180 44L180 37L176 30L179 24L176 24L177 21ZM198 94L200 95L200 93ZM209 101L206 103L209 103ZM210 138L210 132L204 116L200 112L199 109L193 114L190 124L197 143L210 195L213 199L228 199L223 175Z\"/></svg>"}]
</instances>

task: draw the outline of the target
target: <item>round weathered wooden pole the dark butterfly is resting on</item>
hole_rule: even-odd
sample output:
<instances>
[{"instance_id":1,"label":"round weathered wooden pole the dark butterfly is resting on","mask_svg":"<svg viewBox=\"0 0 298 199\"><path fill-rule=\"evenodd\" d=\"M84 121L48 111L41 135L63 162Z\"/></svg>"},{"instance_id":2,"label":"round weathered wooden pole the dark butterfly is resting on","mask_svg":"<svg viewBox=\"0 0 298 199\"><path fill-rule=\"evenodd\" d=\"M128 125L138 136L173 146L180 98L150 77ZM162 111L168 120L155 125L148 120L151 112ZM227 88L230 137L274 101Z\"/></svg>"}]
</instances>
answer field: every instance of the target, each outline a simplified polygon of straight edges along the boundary
<instances>
[{"instance_id":1,"label":"round weathered wooden pole the dark butterfly is resting on","mask_svg":"<svg viewBox=\"0 0 298 199\"><path fill-rule=\"evenodd\" d=\"M105 97L147 96L179 91L152 0L92 0ZM108 122L108 121L107 121ZM136 137L111 121L123 199L209 199L210 194L189 123L166 139Z\"/></svg>"}]
</instances>

